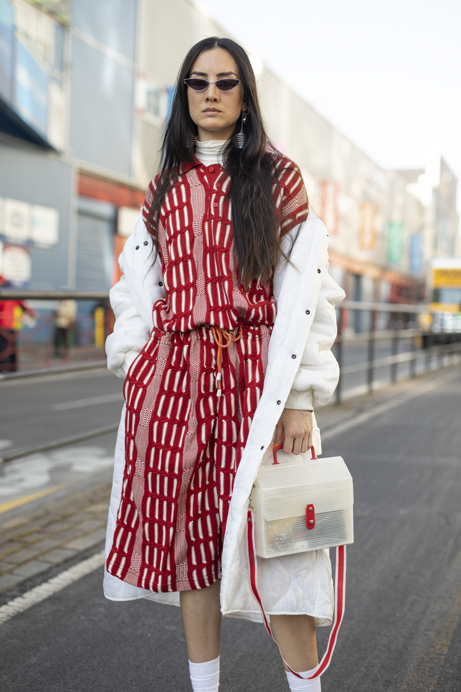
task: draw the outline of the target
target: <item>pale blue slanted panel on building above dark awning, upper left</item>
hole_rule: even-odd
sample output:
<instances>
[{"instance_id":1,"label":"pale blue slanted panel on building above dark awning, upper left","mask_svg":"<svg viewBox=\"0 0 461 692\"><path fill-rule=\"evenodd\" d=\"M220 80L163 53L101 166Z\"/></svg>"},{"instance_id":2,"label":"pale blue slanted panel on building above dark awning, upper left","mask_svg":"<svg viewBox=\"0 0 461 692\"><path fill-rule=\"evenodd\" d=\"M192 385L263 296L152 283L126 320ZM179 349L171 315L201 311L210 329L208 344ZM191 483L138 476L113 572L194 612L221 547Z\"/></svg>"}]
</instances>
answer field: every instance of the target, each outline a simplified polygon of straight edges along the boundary
<instances>
[{"instance_id":1,"label":"pale blue slanted panel on building above dark awning, upper left","mask_svg":"<svg viewBox=\"0 0 461 692\"><path fill-rule=\"evenodd\" d=\"M48 75L19 39L15 48L15 109L30 127L46 137Z\"/></svg>"}]
</instances>

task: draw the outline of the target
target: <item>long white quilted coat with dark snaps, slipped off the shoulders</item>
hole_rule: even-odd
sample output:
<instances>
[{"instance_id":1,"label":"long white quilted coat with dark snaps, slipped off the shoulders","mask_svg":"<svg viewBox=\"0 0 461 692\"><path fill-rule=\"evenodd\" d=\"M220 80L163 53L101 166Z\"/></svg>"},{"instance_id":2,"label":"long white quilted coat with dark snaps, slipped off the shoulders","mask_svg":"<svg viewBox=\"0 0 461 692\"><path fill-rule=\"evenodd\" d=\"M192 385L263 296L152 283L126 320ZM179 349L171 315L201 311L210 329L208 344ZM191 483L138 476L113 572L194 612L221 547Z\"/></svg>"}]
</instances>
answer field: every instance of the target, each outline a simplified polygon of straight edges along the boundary
<instances>
[{"instance_id":1,"label":"long white quilted coat with dark snaps, slipped off the shoulders","mask_svg":"<svg viewBox=\"0 0 461 692\"><path fill-rule=\"evenodd\" d=\"M299 235L291 254L294 266L279 262L274 273L277 316L270 338L263 394L234 481L222 556L221 610L233 617L261 621L250 590L246 556L248 498L258 466L270 463L274 429L283 407L308 409L325 405L337 385L339 369L331 352L336 337L335 304L344 291L328 275L326 227L308 219L292 233ZM290 240L285 237L285 249ZM124 272L111 289L115 328L106 341L109 370L124 377L153 328L152 307L164 297L160 260L152 264L152 242L140 215L135 232L120 255ZM293 356L296 356L294 358ZM277 404L281 401L281 404ZM314 447L321 453L319 428ZM283 455L282 455L283 456ZM310 459L310 453L305 459ZM280 455L279 455L280 457ZM292 461L293 455L286 460ZM312 462L314 463L314 462ZM113 489L109 509L106 556L115 530L124 472L124 410L115 447ZM304 613L318 625L332 622L334 595L328 550L282 558L258 558L258 585L268 614ZM153 594L104 574L104 594L114 601L149 598L179 605L178 592Z\"/></svg>"}]
</instances>

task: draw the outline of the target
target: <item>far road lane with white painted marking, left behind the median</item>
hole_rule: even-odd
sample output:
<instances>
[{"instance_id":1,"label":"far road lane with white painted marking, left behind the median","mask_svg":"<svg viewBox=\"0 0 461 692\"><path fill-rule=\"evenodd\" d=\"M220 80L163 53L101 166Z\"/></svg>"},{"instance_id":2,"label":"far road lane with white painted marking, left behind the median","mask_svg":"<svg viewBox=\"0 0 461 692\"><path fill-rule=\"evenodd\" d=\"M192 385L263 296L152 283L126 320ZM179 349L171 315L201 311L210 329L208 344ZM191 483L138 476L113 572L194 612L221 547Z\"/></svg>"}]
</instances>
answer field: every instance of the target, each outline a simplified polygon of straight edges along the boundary
<instances>
[{"instance_id":1,"label":"far road lane with white painted marking, left behind the median","mask_svg":"<svg viewBox=\"0 0 461 692\"><path fill-rule=\"evenodd\" d=\"M106 428L120 421L122 379L107 370L0 383L0 455ZM80 482L113 466L116 432L0 466L0 510L6 502Z\"/></svg>"}]
</instances>

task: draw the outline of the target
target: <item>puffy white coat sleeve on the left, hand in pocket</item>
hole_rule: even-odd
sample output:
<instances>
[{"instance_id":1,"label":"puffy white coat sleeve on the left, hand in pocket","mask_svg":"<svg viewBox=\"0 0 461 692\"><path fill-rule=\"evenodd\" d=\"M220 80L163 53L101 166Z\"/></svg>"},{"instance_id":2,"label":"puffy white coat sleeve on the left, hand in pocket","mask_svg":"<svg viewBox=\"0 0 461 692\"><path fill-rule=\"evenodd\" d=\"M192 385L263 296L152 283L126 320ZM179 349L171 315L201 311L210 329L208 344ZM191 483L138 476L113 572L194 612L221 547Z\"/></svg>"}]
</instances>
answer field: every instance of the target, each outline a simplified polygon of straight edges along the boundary
<instances>
[{"instance_id":1,"label":"puffy white coat sleeve on the left, hand in pocket","mask_svg":"<svg viewBox=\"0 0 461 692\"><path fill-rule=\"evenodd\" d=\"M122 262L123 253L119 258L123 271ZM106 339L107 367L117 377L124 378L131 363L149 340L149 326L135 307L124 274L109 292L109 297L115 325L113 333Z\"/></svg>"}]
</instances>

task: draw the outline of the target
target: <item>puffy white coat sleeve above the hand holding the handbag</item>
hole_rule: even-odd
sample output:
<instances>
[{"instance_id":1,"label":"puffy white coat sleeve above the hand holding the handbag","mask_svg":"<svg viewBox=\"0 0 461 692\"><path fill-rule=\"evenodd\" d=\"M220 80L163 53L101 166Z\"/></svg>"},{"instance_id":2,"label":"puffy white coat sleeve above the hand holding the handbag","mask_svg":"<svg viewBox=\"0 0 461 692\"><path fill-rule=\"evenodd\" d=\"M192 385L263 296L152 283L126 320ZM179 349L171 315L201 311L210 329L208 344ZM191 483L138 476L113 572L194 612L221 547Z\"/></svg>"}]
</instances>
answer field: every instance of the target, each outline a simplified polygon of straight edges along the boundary
<instances>
[{"instance_id":1,"label":"puffy white coat sleeve above the hand holding the handbag","mask_svg":"<svg viewBox=\"0 0 461 692\"><path fill-rule=\"evenodd\" d=\"M337 335L335 304L344 298L346 293L326 271L308 340L285 408L311 410L330 401L339 379L339 366L331 352Z\"/></svg>"}]
</instances>

